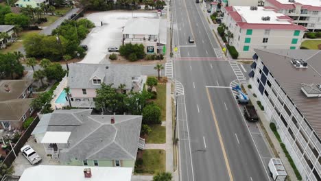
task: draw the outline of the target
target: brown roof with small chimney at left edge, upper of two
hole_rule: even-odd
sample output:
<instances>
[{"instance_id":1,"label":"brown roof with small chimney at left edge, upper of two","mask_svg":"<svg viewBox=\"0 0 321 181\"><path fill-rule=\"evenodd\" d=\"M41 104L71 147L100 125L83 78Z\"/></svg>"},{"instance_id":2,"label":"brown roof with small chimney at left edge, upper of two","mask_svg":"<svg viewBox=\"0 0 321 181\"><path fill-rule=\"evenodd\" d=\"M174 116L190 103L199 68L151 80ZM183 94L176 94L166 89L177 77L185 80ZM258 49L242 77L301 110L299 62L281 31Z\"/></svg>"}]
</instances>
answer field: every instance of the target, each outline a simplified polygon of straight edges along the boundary
<instances>
[{"instance_id":1,"label":"brown roof with small chimney at left edge, upper of two","mask_svg":"<svg viewBox=\"0 0 321 181\"><path fill-rule=\"evenodd\" d=\"M19 98L31 84L28 80L1 80L0 101ZM5 90L7 88L10 91Z\"/></svg>"}]
</instances>

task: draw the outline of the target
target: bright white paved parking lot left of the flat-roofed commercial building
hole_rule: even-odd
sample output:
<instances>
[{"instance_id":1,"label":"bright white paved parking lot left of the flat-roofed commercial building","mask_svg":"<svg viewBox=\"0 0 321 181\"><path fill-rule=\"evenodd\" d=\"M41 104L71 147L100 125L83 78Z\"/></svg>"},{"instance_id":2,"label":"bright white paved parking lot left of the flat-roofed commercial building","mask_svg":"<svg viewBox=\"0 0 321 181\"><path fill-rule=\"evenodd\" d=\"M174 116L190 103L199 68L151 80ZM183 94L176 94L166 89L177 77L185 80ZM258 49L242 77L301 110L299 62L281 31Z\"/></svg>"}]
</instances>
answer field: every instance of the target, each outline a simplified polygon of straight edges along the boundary
<instances>
[{"instance_id":1,"label":"bright white paved parking lot left of the flat-roofed commercial building","mask_svg":"<svg viewBox=\"0 0 321 181\"><path fill-rule=\"evenodd\" d=\"M154 12L136 12L133 13L134 17L156 17L157 13ZM122 44L123 27L126 25L128 19L132 18L132 12L126 11L108 11L97 12L88 14L86 18L95 23L95 28L90 34L82 41L81 45L87 45L87 55L81 63L97 64L106 61L108 54L108 47L119 47ZM101 25L101 23L103 25Z\"/></svg>"}]
</instances>

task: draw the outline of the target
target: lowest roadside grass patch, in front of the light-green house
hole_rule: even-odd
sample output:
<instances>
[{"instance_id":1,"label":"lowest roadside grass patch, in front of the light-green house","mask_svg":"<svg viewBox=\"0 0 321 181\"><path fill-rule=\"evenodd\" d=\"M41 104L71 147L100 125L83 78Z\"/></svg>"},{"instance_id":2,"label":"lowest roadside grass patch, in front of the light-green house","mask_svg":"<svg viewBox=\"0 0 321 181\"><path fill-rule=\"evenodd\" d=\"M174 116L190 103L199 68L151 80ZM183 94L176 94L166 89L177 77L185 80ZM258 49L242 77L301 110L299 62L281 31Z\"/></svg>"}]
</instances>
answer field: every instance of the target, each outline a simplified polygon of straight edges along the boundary
<instances>
[{"instance_id":1,"label":"lowest roadside grass patch, in front of the light-green house","mask_svg":"<svg viewBox=\"0 0 321 181\"><path fill-rule=\"evenodd\" d=\"M143 163L135 167L136 173L154 174L165 171L166 154L163 149L145 149Z\"/></svg>"}]
</instances>

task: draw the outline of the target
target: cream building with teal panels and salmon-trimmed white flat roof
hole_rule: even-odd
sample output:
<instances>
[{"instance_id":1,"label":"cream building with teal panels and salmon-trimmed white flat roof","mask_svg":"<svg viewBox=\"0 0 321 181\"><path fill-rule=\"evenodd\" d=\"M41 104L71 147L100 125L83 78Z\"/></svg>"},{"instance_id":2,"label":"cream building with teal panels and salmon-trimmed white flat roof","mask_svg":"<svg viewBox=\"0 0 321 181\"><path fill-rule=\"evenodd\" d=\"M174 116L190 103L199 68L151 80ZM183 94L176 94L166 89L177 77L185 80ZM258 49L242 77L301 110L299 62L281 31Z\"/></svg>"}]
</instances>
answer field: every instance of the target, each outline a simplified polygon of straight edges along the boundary
<instances>
[{"instance_id":1,"label":"cream building with teal panels and salmon-trimmed white flat roof","mask_svg":"<svg viewBox=\"0 0 321 181\"><path fill-rule=\"evenodd\" d=\"M274 10L254 6L225 7L222 22L233 33L229 44L237 49L239 58L252 58L254 49L300 49L307 29Z\"/></svg>"}]
</instances>

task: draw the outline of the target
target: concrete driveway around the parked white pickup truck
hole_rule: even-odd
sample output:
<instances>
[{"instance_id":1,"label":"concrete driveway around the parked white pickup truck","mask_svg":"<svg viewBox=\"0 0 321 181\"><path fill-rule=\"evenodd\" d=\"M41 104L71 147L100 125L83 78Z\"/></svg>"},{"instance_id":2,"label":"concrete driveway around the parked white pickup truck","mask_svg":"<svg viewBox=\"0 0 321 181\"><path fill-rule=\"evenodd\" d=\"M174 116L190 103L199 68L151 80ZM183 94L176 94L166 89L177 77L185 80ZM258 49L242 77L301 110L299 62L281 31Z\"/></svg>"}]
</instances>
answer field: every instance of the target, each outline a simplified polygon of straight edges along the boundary
<instances>
[{"instance_id":1,"label":"concrete driveway around the parked white pickup truck","mask_svg":"<svg viewBox=\"0 0 321 181\"><path fill-rule=\"evenodd\" d=\"M28 139L27 143L25 143L25 145L30 145L37 152L37 154L43 159L39 163L40 165L59 165L59 162L55 162L51 160L50 156L47 156L42 144L36 143L34 141L34 136L30 136L30 138ZM16 157L16 160L14 160L13 162L13 166L14 166L14 175L21 176L25 169L29 167L34 167L36 165L31 165L30 162L27 160L27 158L25 158L25 156L23 156L23 154L19 152L18 156Z\"/></svg>"}]
</instances>

